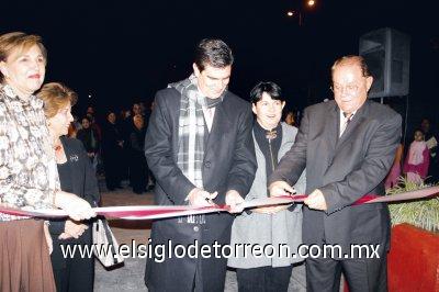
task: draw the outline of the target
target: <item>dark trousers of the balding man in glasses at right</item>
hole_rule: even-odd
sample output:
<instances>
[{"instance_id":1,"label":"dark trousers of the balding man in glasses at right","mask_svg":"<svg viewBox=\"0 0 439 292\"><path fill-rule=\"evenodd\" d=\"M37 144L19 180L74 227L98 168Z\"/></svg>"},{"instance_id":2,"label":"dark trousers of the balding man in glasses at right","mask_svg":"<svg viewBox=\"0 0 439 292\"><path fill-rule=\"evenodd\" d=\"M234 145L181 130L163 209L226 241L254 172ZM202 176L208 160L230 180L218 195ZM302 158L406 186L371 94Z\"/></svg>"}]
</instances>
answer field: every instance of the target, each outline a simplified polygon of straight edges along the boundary
<instances>
[{"instance_id":1,"label":"dark trousers of the balding man in glasses at right","mask_svg":"<svg viewBox=\"0 0 439 292\"><path fill-rule=\"evenodd\" d=\"M387 291L387 255L376 259L306 259L306 290L338 292L341 271L350 292Z\"/></svg>"}]
</instances>

